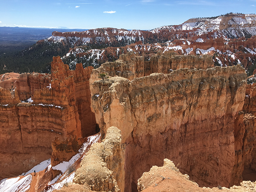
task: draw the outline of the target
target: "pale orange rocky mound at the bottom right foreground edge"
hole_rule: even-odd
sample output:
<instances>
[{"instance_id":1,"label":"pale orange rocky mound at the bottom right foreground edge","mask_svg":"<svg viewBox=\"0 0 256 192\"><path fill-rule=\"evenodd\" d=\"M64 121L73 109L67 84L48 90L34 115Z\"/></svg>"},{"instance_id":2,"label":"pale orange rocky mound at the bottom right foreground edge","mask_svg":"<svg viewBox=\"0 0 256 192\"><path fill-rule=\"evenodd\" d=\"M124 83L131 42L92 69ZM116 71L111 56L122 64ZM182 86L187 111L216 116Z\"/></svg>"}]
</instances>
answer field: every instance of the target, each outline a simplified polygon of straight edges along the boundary
<instances>
[{"instance_id":1,"label":"pale orange rocky mound at the bottom right foreground edge","mask_svg":"<svg viewBox=\"0 0 256 192\"><path fill-rule=\"evenodd\" d=\"M178 165L177 165L178 166ZM169 159L164 159L162 167L153 166L149 172L143 173L138 180L138 191L198 191L198 192L218 192L220 189L225 192L255 191L256 183L243 181L240 186L233 186L230 189L218 185L214 188L200 188L196 182L189 180L188 175L183 175L179 169Z\"/></svg>"}]
</instances>

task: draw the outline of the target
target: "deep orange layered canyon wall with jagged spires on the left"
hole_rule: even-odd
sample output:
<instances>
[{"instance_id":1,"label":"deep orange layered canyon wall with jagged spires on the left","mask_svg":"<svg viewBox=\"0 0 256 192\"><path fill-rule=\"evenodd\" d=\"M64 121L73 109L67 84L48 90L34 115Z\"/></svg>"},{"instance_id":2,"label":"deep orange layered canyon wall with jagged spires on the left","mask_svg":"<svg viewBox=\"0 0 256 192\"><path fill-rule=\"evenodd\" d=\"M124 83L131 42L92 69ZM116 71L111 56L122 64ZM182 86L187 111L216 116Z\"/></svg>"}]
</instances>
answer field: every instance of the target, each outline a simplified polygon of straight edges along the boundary
<instances>
[{"instance_id":1,"label":"deep orange layered canyon wall with jagged spires on the left","mask_svg":"<svg viewBox=\"0 0 256 192\"><path fill-rule=\"evenodd\" d=\"M96 133L89 97L92 69L78 64L72 71L60 57L53 57L51 75L21 74L10 83L15 85L11 89L0 87L0 179L49 159L55 136ZM30 97L30 102L20 102Z\"/></svg>"}]
</instances>

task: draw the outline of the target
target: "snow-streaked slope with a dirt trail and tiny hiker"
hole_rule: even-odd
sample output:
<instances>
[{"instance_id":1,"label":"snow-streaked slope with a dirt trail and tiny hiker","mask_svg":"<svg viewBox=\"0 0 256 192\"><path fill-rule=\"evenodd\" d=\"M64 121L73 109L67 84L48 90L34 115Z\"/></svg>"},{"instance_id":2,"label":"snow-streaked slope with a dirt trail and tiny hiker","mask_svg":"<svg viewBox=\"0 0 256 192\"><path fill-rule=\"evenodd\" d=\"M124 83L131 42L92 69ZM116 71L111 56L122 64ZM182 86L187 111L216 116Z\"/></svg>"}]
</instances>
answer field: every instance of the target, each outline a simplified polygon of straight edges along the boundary
<instances>
[{"instance_id":1,"label":"snow-streaked slope with a dirt trail and tiny hiker","mask_svg":"<svg viewBox=\"0 0 256 192\"><path fill-rule=\"evenodd\" d=\"M100 133L89 136L87 141L83 143L79 153L74 155L68 162L61 162L58 165L52 167L50 159L43 161L29 170L27 173L23 173L22 176L14 178L6 178L0 181L0 192L29 192L34 191L38 186L34 186L34 180L40 183L40 188L44 188L44 192L52 192L54 189L61 189L64 184L71 182L75 176L75 167L79 165L81 159L90 149L91 145L98 142L101 138ZM72 168L72 169L71 169ZM36 176L34 177L34 170ZM54 178L51 172L60 172ZM49 181L49 182L42 182Z\"/></svg>"}]
</instances>

